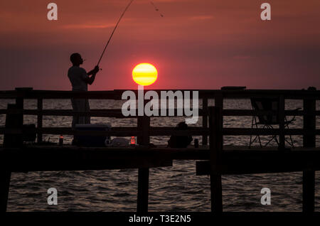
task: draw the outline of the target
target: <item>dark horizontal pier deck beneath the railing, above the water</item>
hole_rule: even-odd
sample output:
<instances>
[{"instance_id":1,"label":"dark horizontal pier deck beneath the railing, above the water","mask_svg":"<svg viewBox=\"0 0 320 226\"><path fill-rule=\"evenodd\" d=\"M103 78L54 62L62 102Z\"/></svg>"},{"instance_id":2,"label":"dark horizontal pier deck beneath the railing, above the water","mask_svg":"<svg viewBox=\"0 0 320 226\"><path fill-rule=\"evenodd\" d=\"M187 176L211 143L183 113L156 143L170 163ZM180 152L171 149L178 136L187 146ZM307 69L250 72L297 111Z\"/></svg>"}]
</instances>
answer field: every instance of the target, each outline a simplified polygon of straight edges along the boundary
<instances>
[{"instance_id":1,"label":"dark horizontal pier deck beneath the railing, above the water","mask_svg":"<svg viewBox=\"0 0 320 226\"><path fill-rule=\"evenodd\" d=\"M320 148L224 146L219 173L277 173L320 170ZM19 171L82 171L172 166L174 160L199 160L197 175L210 174L209 146L171 149L166 146L78 147L28 145L0 147L1 168Z\"/></svg>"}]
</instances>

